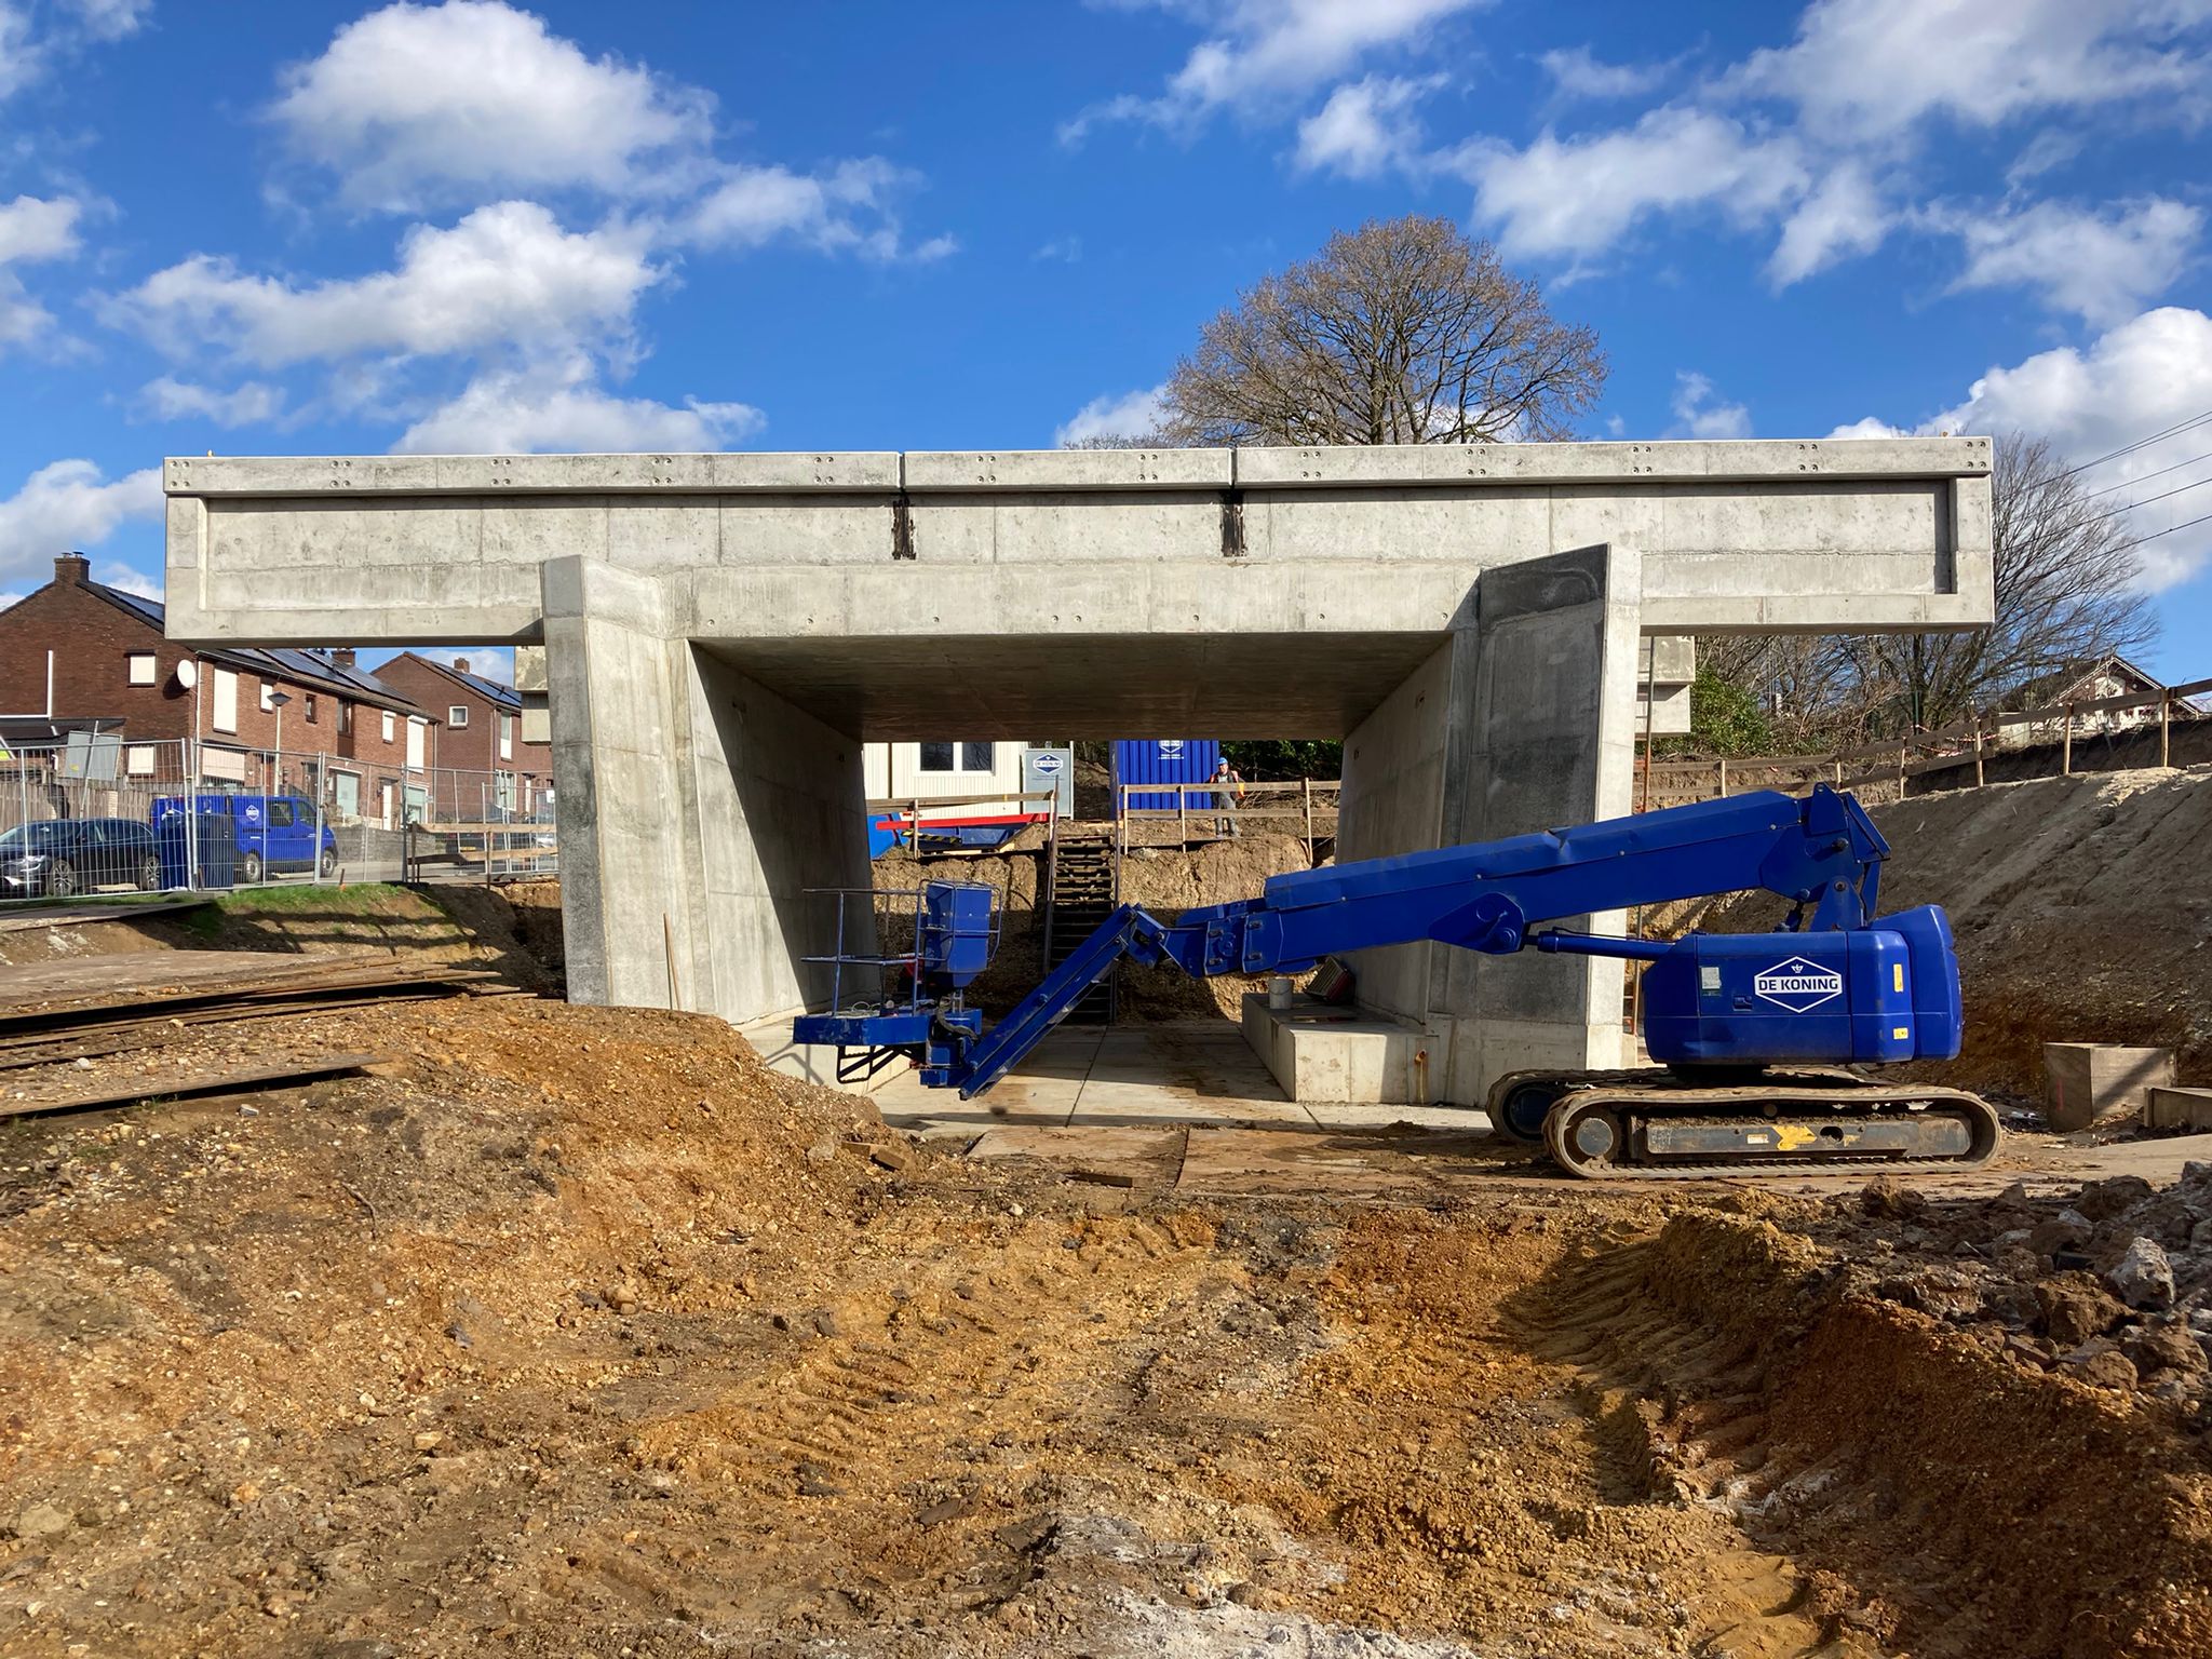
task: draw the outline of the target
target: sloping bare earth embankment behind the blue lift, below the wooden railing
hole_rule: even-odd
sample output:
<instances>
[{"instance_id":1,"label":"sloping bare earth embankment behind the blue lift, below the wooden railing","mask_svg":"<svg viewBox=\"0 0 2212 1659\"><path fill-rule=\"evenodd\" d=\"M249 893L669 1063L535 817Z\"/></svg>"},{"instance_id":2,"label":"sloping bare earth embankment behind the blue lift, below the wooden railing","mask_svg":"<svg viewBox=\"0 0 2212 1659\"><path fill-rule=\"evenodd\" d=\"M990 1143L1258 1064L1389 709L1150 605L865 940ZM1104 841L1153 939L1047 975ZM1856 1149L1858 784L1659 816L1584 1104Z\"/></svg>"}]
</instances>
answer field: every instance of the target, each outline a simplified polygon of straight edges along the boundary
<instances>
[{"instance_id":1,"label":"sloping bare earth embankment behind the blue lift, below the wooden railing","mask_svg":"<svg viewBox=\"0 0 2212 1659\"><path fill-rule=\"evenodd\" d=\"M2174 1048L2212 1082L2212 770L2106 772L1874 807L1882 909L1942 905L1958 936L1966 1044L1944 1082L2033 1099L2042 1044ZM1750 894L1677 918L1774 927Z\"/></svg>"}]
</instances>

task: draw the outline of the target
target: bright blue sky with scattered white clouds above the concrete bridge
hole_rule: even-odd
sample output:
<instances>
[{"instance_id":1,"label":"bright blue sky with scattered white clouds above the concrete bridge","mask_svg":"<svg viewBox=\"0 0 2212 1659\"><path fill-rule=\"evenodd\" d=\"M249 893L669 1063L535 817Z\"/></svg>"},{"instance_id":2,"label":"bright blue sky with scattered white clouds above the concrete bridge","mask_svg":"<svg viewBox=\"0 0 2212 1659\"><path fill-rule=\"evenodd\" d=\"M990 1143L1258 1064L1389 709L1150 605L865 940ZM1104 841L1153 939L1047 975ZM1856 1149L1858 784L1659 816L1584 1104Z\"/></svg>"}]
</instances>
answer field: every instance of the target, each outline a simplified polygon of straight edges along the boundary
<instances>
[{"instance_id":1,"label":"bright blue sky with scattered white clouds above the concrete bridge","mask_svg":"<svg viewBox=\"0 0 2212 1659\"><path fill-rule=\"evenodd\" d=\"M164 453L1141 425L1407 210L1597 327L1586 436L2090 462L2212 414L2208 115L2212 0L0 0L0 595L157 582ZM2212 422L2088 480L2212 675Z\"/></svg>"}]
</instances>

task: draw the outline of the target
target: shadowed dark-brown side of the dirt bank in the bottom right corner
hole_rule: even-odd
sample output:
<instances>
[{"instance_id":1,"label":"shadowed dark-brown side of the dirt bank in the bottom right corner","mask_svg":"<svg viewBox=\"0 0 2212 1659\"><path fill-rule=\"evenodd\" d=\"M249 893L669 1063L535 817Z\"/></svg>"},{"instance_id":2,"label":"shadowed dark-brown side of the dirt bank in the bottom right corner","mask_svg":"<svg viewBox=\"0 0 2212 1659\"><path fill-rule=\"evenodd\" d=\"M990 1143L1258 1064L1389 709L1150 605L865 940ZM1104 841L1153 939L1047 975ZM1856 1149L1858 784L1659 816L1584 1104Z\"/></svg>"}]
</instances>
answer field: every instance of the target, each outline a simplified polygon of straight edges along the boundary
<instances>
[{"instance_id":1,"label":"shadowed dark-brown side of the dirt bank in the bottom right corner","mask_svg":"<svg viewBox=\"0 0 2212 1659\"><path fill-rule=\"evenodd\" d=\"M2212 1650L2194 1420L1878 1285L1754 1214L1690 1212L1528 1303L1548 1352L1641 1400L1624 1433L1655 1489L1816 1568L1829 1635L1958 1659Z\"/></svg>"}]
</instances>

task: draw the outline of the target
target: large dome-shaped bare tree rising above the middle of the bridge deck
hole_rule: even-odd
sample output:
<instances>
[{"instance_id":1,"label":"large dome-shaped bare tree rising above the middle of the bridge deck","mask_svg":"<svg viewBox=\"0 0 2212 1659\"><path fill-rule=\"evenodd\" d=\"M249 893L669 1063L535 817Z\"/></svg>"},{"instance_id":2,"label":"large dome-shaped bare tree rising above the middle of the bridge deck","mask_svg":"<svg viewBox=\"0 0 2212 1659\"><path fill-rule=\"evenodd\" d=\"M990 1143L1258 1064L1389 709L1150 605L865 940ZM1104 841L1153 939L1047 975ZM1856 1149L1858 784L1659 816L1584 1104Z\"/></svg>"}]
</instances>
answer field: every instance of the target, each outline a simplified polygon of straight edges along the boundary
<instances>
[{"instance_id":1,"label":"large dome-shaped bare tree rising above the middle of the bridge deck","mask_svg":"<svg viewBox=\"0 0 2212 1659\"><path fill-rule=\"evenodd\" d=\"M1447 219L1374 219L1263 276L1166 387L1183 445L1498 442L1573 436L1606 385L1597 334Z\"/></svg>"}]
</instances>

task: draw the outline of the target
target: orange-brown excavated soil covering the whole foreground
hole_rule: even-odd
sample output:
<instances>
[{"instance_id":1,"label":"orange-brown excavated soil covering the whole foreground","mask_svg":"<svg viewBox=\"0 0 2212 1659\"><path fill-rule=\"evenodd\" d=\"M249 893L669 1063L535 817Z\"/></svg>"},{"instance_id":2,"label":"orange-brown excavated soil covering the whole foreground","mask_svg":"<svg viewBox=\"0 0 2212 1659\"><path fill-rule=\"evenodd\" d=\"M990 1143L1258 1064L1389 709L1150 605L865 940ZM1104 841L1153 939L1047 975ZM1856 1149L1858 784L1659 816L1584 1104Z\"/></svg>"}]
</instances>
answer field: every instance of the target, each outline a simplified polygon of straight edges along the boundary
<instances>
[{"instance_id":1,"label":"orange-brown excavated soil covering the whole foreground","mask_svg":"<svg viewBox=\"0 0 2212 1659\"><path fill-rule=\"evenodd\" d=\"M1188 1201L692 1015L285 1042L394 1062L0 1135L4 1655L2212 1650L2194 1172Z\"/></svg>"}]
</instances>

